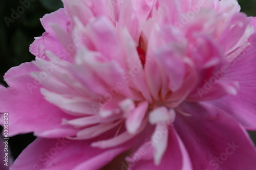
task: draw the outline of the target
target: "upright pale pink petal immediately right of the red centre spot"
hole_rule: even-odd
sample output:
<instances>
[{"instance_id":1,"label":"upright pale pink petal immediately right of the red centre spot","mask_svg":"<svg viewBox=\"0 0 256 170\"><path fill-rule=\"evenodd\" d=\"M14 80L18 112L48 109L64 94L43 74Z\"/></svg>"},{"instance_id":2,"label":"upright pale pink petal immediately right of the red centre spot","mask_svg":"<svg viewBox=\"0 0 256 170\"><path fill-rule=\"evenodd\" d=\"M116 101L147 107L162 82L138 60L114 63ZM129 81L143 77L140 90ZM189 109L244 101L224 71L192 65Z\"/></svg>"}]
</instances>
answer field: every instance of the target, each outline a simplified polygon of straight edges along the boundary
<instances>
[{"instance_id":1,"label":"upright pale pink petal immediately right of the red centre spot","mask_svg":"<svg viewBox=\"0 0 256 170\"><path fill-rule=\"evenodd\" d=\"M185 44L177 37L174 29L167 26L161 28L158 25L153 26L148 39L145 76L154 99L159 100L160 91L161 97L164 98L167 91L177 91L184 81ZM174 41L178 42L173 43Z\"/></svg>"}]
</instances>

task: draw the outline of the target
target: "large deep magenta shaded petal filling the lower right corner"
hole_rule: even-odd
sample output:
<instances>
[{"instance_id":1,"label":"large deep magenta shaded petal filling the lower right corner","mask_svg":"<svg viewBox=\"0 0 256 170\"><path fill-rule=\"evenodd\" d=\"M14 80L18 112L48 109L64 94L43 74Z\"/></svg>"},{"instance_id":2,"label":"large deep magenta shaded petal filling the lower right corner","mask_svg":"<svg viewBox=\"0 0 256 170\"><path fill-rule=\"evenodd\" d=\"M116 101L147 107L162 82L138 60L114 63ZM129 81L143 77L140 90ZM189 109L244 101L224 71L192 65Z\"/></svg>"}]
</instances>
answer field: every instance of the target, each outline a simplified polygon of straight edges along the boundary
<instances>
[{"instance_id":1,"label":"large deep magenta shaded petal filling the lower right corner","mask_svg":"<svg viewBox=\"0 0 256 170\"><path fill-rule=\"evenodd\" d=\"M183 103L175 128L197 170L256 168L256 150L246 131L218 107ZM199 163L200 162L200 163Z\"/></svg>"}]
</instances>

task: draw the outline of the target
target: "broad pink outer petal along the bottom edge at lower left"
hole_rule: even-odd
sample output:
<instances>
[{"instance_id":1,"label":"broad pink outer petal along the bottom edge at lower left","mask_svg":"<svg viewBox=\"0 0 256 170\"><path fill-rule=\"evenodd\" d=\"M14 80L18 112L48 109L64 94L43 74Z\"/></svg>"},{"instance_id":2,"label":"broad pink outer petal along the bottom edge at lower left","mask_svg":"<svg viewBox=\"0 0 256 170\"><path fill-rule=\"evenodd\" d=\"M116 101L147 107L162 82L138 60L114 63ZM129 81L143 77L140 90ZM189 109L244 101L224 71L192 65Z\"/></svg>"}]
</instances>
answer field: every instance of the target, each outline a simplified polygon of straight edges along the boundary
<instances>
[{"instance_id":1,"label":"broad pink outer petal along the bottom edge at lower left","mask_svg":"<svg viewBox=\"0 0 256 170\"><path fill-rule=\"evenodd\" d=\"M99 169L131 147L131 142L112 149L95 149L89 140L37 138L16 159L11 170Z\"/></svg>"}]
</instances>

